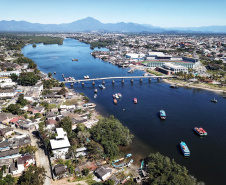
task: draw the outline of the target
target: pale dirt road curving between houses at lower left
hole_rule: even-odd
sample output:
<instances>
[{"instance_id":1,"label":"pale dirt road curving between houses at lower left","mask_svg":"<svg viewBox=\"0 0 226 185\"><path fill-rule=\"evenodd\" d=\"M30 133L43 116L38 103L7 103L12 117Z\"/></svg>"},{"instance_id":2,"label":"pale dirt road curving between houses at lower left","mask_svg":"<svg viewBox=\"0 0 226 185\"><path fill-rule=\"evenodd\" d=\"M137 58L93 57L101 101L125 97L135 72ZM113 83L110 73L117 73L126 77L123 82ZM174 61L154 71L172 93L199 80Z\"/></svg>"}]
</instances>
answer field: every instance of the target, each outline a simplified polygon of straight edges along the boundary
<instances>
[{"instance_id":1,"label":"pale dirt road curving between houses at lower left","mask_svg":"<svg viewBox=\"0 0 226 185\"><path fill-rule=\"evenodd\" d=\"M31 145L36 146L38 148L38 150L35 152L36 165L39 167L43 166L46 170L46 179L45 179L44 185L51 185L51 172L50 172L49 160L48 160L48 157L45 155L44 150L41 148L40 139L38 139L29 131L21 130L21 129L14 129L14 130L21 134L30 135Z\"/></svg>"}]
</instances>

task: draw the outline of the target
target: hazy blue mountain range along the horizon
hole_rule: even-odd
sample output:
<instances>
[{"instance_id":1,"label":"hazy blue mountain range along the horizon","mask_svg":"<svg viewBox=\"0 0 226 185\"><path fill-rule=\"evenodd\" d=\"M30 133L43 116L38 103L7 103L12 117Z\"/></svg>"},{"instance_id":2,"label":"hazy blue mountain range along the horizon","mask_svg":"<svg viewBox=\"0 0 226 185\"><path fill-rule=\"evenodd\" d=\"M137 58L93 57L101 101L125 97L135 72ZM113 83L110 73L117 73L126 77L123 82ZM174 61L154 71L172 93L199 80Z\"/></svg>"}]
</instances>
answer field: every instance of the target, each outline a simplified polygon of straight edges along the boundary
<instances>
[{"instance_id":1,"label":"hazy blue mountain range along the horizon","mask_svg":"<svg viewBox=\"0 0 226 185\"><path fill-rule=\"evenodd\" d=\"M65 24L39 24L26 21L0 21L0 31L28 32L78 32L78 31L108 31L108 32L145 32L145 33L226 33L226 26L207 26L197 28L160 28L147 24L136 23L102 23L92 17Z\"/></svg>"}]
</instances>

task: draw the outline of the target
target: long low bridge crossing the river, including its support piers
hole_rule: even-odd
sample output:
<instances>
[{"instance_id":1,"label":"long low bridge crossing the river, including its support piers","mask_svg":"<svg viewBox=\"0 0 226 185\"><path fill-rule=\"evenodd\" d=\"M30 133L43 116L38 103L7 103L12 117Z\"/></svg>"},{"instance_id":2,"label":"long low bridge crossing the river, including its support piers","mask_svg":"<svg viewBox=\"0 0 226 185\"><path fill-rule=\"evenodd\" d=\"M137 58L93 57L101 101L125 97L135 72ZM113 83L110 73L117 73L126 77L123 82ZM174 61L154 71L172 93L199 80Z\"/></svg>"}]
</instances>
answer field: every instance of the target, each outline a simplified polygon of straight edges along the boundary
<instances>
[{"instance_id":1,"label":"long low bridge crossing the river, including its support piers","mask_svg":"<svg viewBox=\"0 0 226 185\"><path fill-rule=\"evenodd\" d=\"M103 77L103 78L92 78L92 79L78 79L78 80L67 80L62 81L63 83L80 83L84 84L84 82L92 81L93 84L95 84L95 81L103 81L102 83L105 83L104 80L112 80L112 83L115 83L115 79L121 79L122 82L124 82L124 79L130 79L131 82L133 82L133 79L140 79L140 81L143 80L143 78L149 79L151 81L152 78L157 79L164 79L164 78L176 78L176 76L167 75L167 76L121 76L121 77Z\"/></svg>"}]
</instances>

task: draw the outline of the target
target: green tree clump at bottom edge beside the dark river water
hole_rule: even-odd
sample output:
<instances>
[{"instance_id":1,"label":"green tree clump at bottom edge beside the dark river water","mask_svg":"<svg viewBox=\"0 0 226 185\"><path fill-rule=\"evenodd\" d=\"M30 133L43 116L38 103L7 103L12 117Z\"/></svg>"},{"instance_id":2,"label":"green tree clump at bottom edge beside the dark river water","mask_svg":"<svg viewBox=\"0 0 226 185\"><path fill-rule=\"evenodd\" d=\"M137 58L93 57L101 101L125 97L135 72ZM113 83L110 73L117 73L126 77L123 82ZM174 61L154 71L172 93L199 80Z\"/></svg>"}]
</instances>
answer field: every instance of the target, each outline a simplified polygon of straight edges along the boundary
<instances>
[{"instance_id":1,"label":"green tree clump at bottom edge beside the dark river water","mask_svg":"<svg viewBox=\"0 0 226 185\"><path fill-rule=\"evenodd\" d=\"M184 166L159 153L149 155L147 168L149 184L197 184L196 179L188 174Z\"/></svg>"}]
</instances>

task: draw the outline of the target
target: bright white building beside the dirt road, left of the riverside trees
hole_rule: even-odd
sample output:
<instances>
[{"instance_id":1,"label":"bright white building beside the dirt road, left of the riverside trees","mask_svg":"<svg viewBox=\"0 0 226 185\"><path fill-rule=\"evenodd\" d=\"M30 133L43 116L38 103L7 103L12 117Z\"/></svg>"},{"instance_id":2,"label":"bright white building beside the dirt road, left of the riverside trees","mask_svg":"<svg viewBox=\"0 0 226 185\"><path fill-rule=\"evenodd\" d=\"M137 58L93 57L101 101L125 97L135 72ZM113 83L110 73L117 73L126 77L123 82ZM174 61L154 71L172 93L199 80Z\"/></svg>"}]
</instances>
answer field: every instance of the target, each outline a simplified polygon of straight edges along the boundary
<instances>
[{"instance_id":1,"label":"bright white building beside the dirt road, left of the riverside trees","mask_svg":"<svg viewBox=\"0 0 226 185\"><path fill-rule=\"evenodd\" d=\"M50 140L50 145L55 158L65 159L66 154L68 153L68 148L71 146L67 133L63 128L56 128L57 136L56 139Z\"/></svg>"}]
</instances>

